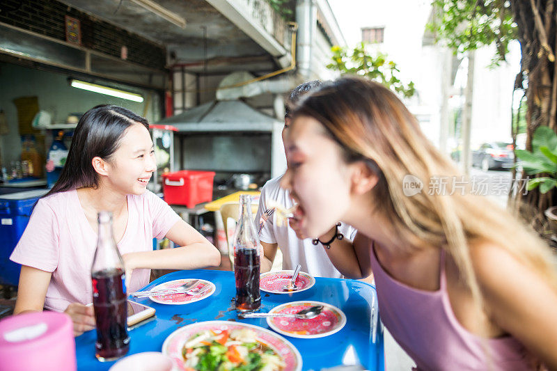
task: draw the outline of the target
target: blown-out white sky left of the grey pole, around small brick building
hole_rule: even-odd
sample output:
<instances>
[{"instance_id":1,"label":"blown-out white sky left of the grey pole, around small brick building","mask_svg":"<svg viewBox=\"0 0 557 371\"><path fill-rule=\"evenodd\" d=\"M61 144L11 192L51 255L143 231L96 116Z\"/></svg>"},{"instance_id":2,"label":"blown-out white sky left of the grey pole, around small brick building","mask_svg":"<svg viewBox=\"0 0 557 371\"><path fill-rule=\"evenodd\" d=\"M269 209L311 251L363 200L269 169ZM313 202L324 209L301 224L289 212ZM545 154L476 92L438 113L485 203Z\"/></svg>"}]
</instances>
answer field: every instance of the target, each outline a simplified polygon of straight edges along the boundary
<instances>
[{"instance_id":1,"label":"blown-out white sky left of the grey pole, around small brick building","mask_svg":"<svg viewBox=\"0 0 557 371\"><path fill-rule=\"evenodd\" d=\"M384 26L384 42L372 45L397 63L401 81L414 81L416 97L406 100L424 134L439 143L440 47L423 47L430 2L423 0L329 0L349 47L361 42L361 28Z\"/></svg>"}]
</instances>

